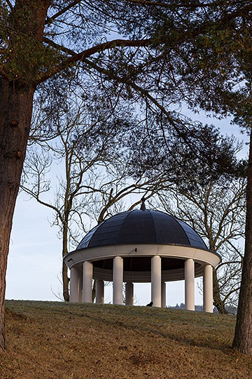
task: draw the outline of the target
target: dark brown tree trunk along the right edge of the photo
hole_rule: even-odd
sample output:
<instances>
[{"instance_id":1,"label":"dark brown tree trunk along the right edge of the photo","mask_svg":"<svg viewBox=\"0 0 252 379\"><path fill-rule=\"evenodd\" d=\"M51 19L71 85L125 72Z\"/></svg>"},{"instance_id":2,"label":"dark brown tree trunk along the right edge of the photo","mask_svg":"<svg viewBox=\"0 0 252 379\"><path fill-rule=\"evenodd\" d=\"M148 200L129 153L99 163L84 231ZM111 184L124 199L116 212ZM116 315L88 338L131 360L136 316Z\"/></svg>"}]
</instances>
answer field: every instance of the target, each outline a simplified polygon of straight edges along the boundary
<instances>
[{"instance_id":1,"label":"dark brown tree trunk along the right edge of the photo","mask_svg":"<svg viewBox=\"0 0 252 379\"><path fill-rule=\"evenodd\" d=\"M244 264L232 346L244 354L252 355L252 131L248 158Z\"/></svg>"}]
</instances>

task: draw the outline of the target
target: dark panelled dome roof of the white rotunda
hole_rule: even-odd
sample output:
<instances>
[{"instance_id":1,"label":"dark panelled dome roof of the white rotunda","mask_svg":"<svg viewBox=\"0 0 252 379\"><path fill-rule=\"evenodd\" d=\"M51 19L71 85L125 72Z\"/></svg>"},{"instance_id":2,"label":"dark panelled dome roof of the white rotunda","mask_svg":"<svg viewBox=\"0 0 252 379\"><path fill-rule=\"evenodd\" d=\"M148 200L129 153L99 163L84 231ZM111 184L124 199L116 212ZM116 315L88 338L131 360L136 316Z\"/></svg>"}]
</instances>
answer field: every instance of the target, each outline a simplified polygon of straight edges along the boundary
<instances>
[{"instance_id":1,"label":"dark panelled dome roof of the white rotunda","mask_svg":"<svg viewBox=\"0 0 252 379\"><path fill-rule=\"evenodd\" d=\"M76 250L118 244L176 244L207 249L202 238L185 222L160 211L118 213L94 227Z\"/></svg>"}]
</instances>

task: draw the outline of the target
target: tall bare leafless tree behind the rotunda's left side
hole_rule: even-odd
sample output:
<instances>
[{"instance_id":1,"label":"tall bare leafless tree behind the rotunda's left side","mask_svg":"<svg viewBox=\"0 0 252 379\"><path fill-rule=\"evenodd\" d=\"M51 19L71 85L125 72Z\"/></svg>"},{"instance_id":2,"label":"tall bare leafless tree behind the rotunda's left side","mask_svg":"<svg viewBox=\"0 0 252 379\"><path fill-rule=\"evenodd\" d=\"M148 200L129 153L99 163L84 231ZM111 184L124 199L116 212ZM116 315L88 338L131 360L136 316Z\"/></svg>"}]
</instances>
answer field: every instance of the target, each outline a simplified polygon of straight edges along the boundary
<instances>
[{"instance_id":1,"label":"tall bare leafless tree behind the rotunda's left side","mask_svg":"<svg viewBox=\"0 0 252 379\"><path fill-rule=\"evenodd\" d=\"M21 188L53 211L51 225L58 227L62 257L70 247L76 247L80 235L92 225L126 206L123 199L138 194L133 197L134 208L141 194L150 197L165 180L164 173L151 179L144 175L137 180L130 177L122 135L130 135L134 123L127 120L125 109L120 107L117 111L116 106L117 103L102 109L100 105L99 112L92 114L78 98L71 98L69 106L55 110L53 120L45 117L45 112L36 112ZM52 137L43 138L36 126L40 124L41 133L41 126L48 122L53 123ZM56 175L52 175L55 171ZM56 188L54 193L52 188ZM64 263L62 285L63 298L69 301L69 277Z\"/></svg>"}]
</instances>

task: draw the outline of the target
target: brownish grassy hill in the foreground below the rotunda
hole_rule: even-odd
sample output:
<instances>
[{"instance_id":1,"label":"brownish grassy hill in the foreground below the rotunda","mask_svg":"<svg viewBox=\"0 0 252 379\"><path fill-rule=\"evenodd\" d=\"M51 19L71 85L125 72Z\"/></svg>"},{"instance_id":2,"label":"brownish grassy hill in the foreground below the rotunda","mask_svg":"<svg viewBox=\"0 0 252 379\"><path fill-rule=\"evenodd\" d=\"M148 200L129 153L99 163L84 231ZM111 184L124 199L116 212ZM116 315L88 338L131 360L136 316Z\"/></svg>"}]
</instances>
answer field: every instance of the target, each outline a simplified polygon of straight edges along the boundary
<instances>
[{"instance_id":1,"label":"brownish grassy hill in the foreground below the rotunda","mask_svg":"<svg viewBox=\"0 0 252 379\"><path fill-rule=\"evenodd\" d=\"M6 301L4 379L252 378L230 349L235 317L182 310Z\"/></svg>"}]
</instances>

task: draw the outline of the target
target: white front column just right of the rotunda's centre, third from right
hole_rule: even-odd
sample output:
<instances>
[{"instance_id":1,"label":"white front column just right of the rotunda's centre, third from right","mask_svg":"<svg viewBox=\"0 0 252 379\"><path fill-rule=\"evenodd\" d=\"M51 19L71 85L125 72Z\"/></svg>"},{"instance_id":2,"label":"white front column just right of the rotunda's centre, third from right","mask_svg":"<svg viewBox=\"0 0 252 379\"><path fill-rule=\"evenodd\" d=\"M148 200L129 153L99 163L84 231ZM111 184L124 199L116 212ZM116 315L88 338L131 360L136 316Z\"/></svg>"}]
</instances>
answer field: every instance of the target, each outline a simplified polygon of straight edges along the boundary
<instances>
[{"instance_id":1,"label":"white front column just right of the rotunda's centre, third from right","mask_svg":"<svg viewBox=\"0 0 252 379\"><path fill-rule=\"evenodd\" d=\"M153 307L161 307L161 258L159 255L151 258L151 301L153 301Z\"/></svg>"}]
</instances>

